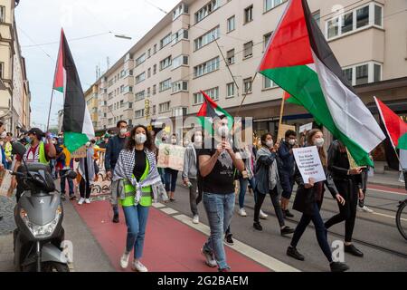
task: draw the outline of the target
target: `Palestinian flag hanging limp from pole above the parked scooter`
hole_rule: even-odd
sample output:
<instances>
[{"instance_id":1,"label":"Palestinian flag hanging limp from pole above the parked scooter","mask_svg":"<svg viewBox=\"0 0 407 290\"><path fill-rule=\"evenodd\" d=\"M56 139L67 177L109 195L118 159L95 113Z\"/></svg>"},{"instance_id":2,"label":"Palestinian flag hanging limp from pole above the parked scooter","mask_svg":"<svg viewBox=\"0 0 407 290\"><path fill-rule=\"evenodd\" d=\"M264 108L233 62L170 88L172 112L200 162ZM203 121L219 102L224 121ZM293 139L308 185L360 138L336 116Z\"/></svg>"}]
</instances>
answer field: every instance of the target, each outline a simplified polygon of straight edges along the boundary
<instances>
[{"instance_id":1,"label":"Palestinian flag hanging limp from pole above the parked scooter","mask_svg":"<svg viewBox=\"0 0 407 290\"><path fill-rule=\"evenodd\" d=\"M70 47L61 31L61 43L55 69L53 89L63 93L63 142L73 152L95 137L95 131L86 106L80 78L73 62Z\"/></svg>"}]
</instances>

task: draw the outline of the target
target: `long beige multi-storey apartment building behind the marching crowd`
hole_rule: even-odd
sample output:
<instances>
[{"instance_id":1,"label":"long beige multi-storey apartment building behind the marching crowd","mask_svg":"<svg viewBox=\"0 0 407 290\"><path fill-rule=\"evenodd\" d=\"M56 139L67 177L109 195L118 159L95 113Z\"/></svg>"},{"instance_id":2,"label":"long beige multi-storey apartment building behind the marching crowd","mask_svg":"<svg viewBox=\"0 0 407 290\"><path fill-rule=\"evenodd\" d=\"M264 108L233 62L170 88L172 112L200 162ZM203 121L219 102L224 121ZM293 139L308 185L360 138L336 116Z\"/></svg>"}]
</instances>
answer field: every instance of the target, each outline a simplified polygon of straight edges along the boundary
<instances>
[{"instance_id":1,"label":"long beige multi-storey apartment building behind the marching crowd","mask_svg":"<svg viewBox=\"0 0 407 290\"><path fill-rule=\"evenodd\" d=\"M232 115L253 117L254 130L277 131L282 91L255 72L286 8L283 0L185 0L140 39L95 86L97 130L118 120L155 123L193 116L207 92ZM356 92L407 114L407 2L308 0L321 31ZM226 65L227 63L227 65ZM284 121L312 116L287 104Z\"/></svg>"}]
</instances>

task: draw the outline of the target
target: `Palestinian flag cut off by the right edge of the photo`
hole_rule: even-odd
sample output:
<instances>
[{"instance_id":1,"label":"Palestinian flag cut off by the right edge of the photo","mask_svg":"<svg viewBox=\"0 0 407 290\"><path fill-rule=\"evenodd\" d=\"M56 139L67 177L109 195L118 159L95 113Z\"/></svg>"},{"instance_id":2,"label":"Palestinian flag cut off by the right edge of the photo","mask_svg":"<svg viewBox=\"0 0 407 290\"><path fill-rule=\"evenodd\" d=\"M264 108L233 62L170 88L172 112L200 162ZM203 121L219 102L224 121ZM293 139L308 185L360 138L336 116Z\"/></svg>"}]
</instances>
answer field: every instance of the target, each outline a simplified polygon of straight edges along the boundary
<instances>
[{"instance_id":1,"label":"Palestinian flag cut off by the right edge of the photo","mask_svg":"<svg viewBox=\"0 0 407 290\"><path fill-rule=\"evenodd\" d=\"M389 135L394 149L407 150L407 123L402 121L399 116L382 101L374 97L377 109L379 109L384 127Z\"/></svg>"}]
</instances>

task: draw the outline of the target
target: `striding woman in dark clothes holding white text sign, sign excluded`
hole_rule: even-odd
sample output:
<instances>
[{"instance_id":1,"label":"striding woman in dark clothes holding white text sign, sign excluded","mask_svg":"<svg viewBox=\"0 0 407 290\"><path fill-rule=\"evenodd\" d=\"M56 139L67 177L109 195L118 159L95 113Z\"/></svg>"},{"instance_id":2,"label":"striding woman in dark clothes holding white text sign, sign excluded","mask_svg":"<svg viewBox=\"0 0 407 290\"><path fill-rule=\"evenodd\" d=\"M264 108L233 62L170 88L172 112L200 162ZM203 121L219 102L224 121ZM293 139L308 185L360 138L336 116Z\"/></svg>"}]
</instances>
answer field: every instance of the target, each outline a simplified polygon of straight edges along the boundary
<instances>
[{"instance_id":1,"label":"striding woman in dark clothes holding white text sign, sign excluded","mask_svg":"<svg viewBox=\"0 0 407 290\"><path fill-rule=\"evenodd\" d=\"M323 148L324 139L322 131L320 131L319 129L309 131L307 136L307 144L308 146L317 146L319 159L321 160L322 166L327 175L327 153ZM327 257L331 271L344 272L348 270L349 267L345 264L334 262L332 260L331 247L329 246L327 241L327 229L319 213L324 198L324 186L329 189L338 203L345 203L345 199L342 198L342 196L339 194L334 181L330 178L329 175L327 175L327 179L325 181L314 182L312 179L304 180L299 173L298 167L296 167L295 179L298 183L298 189L293 208L298 210L299 212L302 212L302 217L298 223L298 226L296 227L294 236L291 239L291 244L287 249L287 255L292 256L300 261L304 261L305 258L301 254L299 254L297 245L299 239L302 237L309 223L312 221L315 227L318 245L324 255Z\"/></svg>"}]
</instances>

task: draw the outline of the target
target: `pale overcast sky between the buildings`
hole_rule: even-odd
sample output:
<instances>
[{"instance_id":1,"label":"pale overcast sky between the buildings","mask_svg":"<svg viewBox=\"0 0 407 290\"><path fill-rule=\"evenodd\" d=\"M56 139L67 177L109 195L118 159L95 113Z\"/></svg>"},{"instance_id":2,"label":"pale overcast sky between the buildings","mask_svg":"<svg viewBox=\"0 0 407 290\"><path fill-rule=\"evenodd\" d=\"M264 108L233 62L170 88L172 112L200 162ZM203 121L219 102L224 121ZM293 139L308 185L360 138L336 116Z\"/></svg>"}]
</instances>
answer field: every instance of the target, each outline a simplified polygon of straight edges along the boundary
<instances>
[{"instance_id":1,"label":"pale overcast sky between the buildings","mask_svg":"<svg viewBox=\"0 0 407 290\"><path fill-rule=\"evenodd\" d=\"M31 86L33 125L39 127L47 122L62 26L80 75L82 89L87 90L96 81L97 65L102 73L106 71L108 56L110 65L116 63L164 17L165 14L151 4L168 12L178 2L179 0L21 1L15 9L15 22ZM132 40L116 38L109 31L131 36ZM94 34L102 35L73 40ZM51 124L56 125L57 111L63 106L62 94L54 92L53 100Z\"/></svg>"}]
</instances>

